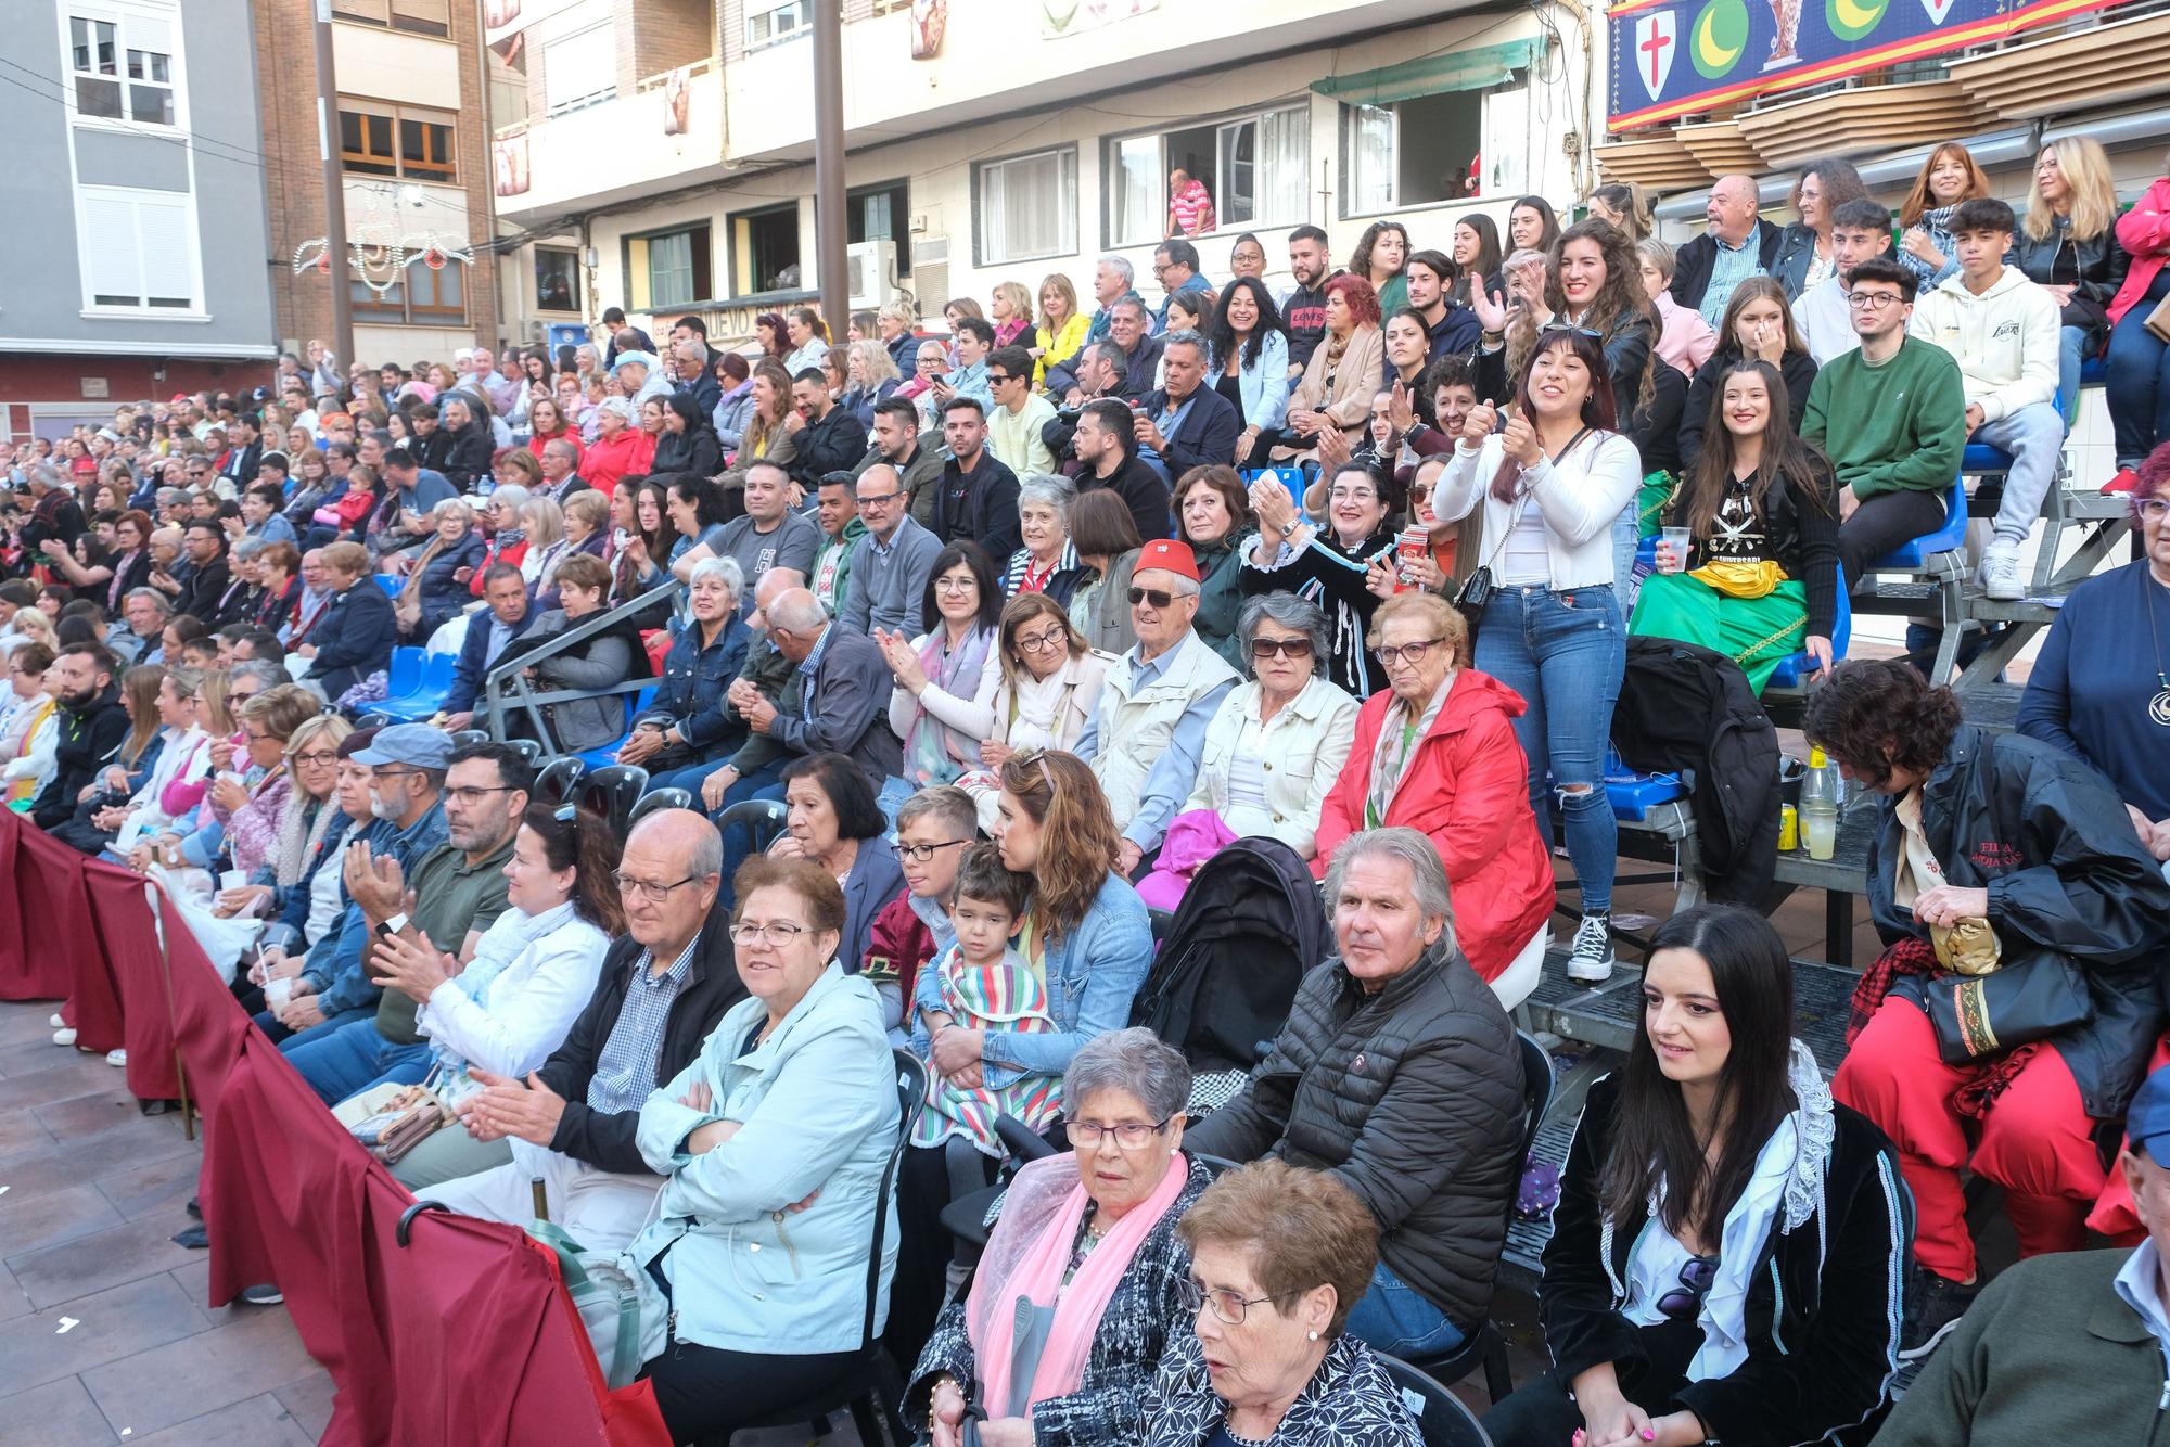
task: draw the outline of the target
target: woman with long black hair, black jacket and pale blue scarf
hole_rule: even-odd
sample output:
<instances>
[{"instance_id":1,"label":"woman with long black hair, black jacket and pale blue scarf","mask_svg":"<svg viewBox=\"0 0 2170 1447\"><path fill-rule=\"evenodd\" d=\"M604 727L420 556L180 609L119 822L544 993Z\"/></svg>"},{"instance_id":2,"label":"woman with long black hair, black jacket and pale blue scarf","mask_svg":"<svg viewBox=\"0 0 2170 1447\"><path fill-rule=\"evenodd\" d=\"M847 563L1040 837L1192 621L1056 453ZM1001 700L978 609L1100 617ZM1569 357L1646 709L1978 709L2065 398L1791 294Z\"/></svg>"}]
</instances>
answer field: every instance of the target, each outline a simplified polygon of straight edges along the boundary
<instances>
[{"instance_id":1,"label":"woman with long black hair, black jacket and pale blue scarf","mask_svg":"<svg viewBox=\"0 0 2170 1447\"><path fill-rule=\"evenodd\" d=\"M1866 1440L1907 1291L1899 1161L1795 1039L1771 922L1658 926L1643 1028L1591 1087L1545 1245L1554 1369L1484 1414L1495 1443Z\"/></svg>"}]
</instances>

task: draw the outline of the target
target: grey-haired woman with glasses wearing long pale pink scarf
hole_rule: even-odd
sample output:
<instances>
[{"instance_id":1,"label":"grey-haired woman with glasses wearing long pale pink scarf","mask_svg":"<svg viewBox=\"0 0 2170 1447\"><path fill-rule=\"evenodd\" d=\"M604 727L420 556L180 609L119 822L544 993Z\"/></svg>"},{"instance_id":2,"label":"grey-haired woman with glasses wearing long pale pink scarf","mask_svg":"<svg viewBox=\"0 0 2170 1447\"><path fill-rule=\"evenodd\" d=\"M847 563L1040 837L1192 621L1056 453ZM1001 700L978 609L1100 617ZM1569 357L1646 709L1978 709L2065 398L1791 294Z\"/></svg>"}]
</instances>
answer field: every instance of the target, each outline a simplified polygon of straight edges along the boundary
<instances>
[{"instance_id":1,"label":"grey-haired woman with glasses wearing long pale pink scarf","mask_svg":"<svg viewBox=\"0 0 2170 1447\"><path fill-rule=\"evenodd\" d=\"M1183 1332L1178 1221L1213 1176L1183 1154L1191 1067L1152 1030L1102 1035L1070 1061L1070 1150L1003 1198L972 1291L950 1302L905 1388L931 1447L1137 1443L1144 1397Z\"/></svg>"}]
</instances>

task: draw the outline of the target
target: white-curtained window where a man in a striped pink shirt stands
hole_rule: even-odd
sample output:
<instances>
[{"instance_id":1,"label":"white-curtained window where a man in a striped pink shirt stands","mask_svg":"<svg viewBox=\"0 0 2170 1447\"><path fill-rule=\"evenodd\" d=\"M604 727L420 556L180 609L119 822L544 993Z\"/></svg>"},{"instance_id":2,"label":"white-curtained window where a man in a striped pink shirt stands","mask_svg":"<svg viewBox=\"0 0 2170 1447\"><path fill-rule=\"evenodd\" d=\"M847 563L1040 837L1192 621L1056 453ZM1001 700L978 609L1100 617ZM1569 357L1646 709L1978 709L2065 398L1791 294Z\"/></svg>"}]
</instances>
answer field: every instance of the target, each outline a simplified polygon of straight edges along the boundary
<instances>
[{"instance_id":1,"label":"white-curtained window where a man in a striped pink shirt stands","mask_svg":"<svg viewBox=\"0 0 2170 1447\"><path fill-rule=\"evenodd\" d=\"M1144 245L1167 234L1167 174L1183 167L1213 197L1213 230L1293 226L1304 219L1311 113L1304 106L1237 115L1107 143L1107 241Z\"/></svg>"}]
</instances>

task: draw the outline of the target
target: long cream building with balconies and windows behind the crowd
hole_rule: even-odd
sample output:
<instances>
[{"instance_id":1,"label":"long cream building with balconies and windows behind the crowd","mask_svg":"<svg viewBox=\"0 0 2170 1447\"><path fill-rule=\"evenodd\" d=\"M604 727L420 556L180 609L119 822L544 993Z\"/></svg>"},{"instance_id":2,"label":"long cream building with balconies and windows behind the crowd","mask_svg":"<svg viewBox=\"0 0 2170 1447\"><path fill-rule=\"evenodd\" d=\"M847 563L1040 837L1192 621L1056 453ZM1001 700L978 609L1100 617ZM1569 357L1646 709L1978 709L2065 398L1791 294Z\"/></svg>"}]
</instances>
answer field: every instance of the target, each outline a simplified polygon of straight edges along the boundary
<instances>
[{"instance_id":1,"label":"long cream building with balconies and windows behind the crowd","mask_svg":"<svg viewBox=\"0 0 2170 1447\"><path fill-rule=\"evenodd\" d=\"M812 299L809 20L807 0L486 7L506 341L608 306L742 341ZM846 0L853 306L940 319L953 295L1063 273L1089 308L1102 254L1157 297L1174 167L1215 200L1211 278L1241 232L1287 280L1302 223L1345 258L1380 219L1445 247L1463 213L1565 206L1593 178L1601 43L1565 9L1042 0L950 22L944 2Z\"/></svg>"}]
</instances>

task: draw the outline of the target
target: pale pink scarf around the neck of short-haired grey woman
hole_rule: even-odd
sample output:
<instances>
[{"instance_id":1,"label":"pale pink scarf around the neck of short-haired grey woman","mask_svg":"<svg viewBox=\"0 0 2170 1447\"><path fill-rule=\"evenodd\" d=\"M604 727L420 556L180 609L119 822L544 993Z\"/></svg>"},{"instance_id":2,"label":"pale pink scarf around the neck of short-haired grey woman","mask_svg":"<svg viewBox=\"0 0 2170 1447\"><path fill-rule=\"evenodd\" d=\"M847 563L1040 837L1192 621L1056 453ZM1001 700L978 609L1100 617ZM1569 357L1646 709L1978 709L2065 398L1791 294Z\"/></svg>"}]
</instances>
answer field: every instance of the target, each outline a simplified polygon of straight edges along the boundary
<instances>
[{"instance_id":1,"label":"pale pink scarf around the neck of short-haired grey woman","mask_svg":"<svg viewBox=\"0 0 2170 1447\"><path fill-rule=\"evenodd\" d=\"M1003 1217L994 1224L987 1252L981 1256L972 1295L966 1299L966 1330L987 1417L1009 1414L1018 1297L1029 1297L1035 1306L1055 1304L1055 1323L1033 1371L1031 1399L1048 1401L1074 1393L1085 1378L1085 1360L1092 1356L1109 1297L1115 1295L1146 1234L1183 1195L1189 1174L1189 1161L1178 1152L1152 1195L1115 1221L1063 1289L1063 1269L1070 1265L1078 1224L1089 1204L1076 1178L1076 1158L1063 1152L1018 1171L1003 1200Z\"/></svg>"}]
</instances>

